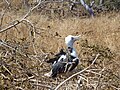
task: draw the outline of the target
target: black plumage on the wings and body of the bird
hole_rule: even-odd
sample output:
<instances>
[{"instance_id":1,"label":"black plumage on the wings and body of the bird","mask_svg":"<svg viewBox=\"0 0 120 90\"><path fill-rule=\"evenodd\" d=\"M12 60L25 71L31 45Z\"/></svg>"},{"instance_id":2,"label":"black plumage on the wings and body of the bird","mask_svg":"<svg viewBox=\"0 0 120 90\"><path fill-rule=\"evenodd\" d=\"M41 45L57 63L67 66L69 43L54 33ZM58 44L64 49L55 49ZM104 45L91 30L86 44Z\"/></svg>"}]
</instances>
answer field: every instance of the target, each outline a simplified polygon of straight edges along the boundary
<instances>
[{"instance_id":1,"label":"black plumage on the wings and body of the bird","mask_svg":"<svg viewBox=\"0 0 120 90\"><path fill-rule=\"evenodd\" d=\"M69 48L68 50L72 51L72 48ZM66 60L63 60L63 58L61 58L61 60L58 62L59 58L62 55L67 55L63 49L61 49L60 52L57 53L54 58L51 58L47 61L47 63L52 63L52 74L51 74L52 78L56 77L57 74L64 73L67 71L72 71L79 63L79 59L71 55L67 60L68 63L65 63L64 61Z\"/></svg>"}]
</instances>

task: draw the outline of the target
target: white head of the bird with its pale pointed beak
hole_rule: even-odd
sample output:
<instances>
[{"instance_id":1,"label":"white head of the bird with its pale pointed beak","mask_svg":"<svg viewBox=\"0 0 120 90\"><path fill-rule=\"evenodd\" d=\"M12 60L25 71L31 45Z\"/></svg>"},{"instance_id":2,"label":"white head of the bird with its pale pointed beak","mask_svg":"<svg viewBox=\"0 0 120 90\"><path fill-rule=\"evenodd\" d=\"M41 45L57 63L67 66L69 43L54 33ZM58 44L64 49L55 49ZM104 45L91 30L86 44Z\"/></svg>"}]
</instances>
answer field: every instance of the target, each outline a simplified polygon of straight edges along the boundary
<instances>
[{"instance_id":1,"label":"white head of the bird with its pale pointed beak","mask_svg":"<svg viewBox=\"0 0 120 90\"><path fill-rule=\"evenodd\" d=\"M65 37L65 44L67 45L67 47L73 48L73 43L79 39L80 35L79 36L68 35L67 37Z\"/></svg>"}]
</instances>

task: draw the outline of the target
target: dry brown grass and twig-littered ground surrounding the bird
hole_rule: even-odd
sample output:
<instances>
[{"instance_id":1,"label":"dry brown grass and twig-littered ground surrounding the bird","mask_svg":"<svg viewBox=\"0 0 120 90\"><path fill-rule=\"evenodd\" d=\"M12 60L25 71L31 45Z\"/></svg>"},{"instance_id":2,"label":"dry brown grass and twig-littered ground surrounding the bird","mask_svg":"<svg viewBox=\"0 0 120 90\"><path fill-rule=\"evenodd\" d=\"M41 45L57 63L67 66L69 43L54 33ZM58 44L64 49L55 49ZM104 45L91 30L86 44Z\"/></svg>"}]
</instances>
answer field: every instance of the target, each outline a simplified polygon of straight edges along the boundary
<instances>
[{"instance_id":1,"label":"dry brown grass and twig-littered ground surrounding the bird","mask_svg":"<svg viewBox=\"0 0 120 90\"><path fill-rule=\"evenodd\" d=\"M19 20L24 12L6 12L0 29ZM2 15L1 15L2 16ZM0 33L0 89L48 90L96 62L85 72L65 82L61 90L119 90L120 89L120 14L109 13L95 18L68 17L51 19L49 16L31 13L23 22ZM12 22L12 23L10 23ZM81 60L70 73L56 79L45 77L51 66L46 61L61 48L64 38L81 35L75 47ZM3 43L4 42L4 43ZM80 86L80 77L83 80Z\"/></svg>"}]
</instances>

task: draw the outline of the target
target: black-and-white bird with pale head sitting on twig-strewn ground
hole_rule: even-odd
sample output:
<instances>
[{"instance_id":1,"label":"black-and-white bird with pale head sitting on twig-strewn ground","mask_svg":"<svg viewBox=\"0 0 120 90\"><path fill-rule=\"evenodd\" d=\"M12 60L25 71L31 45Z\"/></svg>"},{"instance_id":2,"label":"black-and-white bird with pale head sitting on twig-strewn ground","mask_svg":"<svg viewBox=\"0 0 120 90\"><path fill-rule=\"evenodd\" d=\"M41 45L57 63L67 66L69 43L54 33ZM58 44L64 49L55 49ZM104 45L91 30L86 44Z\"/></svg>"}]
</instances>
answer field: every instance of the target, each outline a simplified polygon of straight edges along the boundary
<instances>
[{"instance_id":1,"label":"black-and-white bird with pale head sitting on twig-strewn ground","mask_svg":"<svg viewBox=\"0 0 120 90\"><path fill-rule=\"evenodd\" d=\"M74 42L79 39L80 35L68 35L65 37L66 51L61 49L54 58L47 61L47 63L52 63L52 69L49 73L45 74L45 76L52 78L57 77L57 74L70 72L79 64L79 58L74 48Z\"/></svg>"}]
</instances>

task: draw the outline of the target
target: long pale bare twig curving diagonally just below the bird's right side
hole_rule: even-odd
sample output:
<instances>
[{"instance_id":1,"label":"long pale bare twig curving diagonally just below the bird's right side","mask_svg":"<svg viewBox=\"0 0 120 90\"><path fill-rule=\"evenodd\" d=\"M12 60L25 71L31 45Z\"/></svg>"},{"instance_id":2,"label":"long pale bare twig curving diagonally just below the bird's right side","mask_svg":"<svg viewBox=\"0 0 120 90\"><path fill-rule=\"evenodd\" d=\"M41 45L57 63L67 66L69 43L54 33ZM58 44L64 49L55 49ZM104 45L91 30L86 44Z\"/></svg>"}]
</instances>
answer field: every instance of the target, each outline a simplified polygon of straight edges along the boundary
<instances>
[{"instance_id":1,"label":"long pale bare twig curving diagonally just below the bird's right side","mask_svg":"<svg viewBox=\"0 0 120 90\"><path fill-rule=\"evenodd\" d=\"M90 66L86 67L85 69L81 70L80 72L77 72L77 73L73 74L72 76L70 76L69 78L67 78L63 82L61 82L54 90L58 90L60 88L60 86L62 86L66 81L70 80L71 78L75 77L76 75L79 75L82 72L84 72L87 69L89 69L95 63L95 61L97 60L97 58L98 58L99 55L100 55L99 53L96 55L95 59L93 60L93 62L92 62L92 64Z\"/></svg>"}]
</instances>

